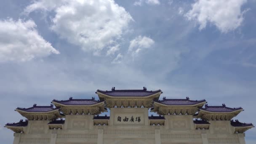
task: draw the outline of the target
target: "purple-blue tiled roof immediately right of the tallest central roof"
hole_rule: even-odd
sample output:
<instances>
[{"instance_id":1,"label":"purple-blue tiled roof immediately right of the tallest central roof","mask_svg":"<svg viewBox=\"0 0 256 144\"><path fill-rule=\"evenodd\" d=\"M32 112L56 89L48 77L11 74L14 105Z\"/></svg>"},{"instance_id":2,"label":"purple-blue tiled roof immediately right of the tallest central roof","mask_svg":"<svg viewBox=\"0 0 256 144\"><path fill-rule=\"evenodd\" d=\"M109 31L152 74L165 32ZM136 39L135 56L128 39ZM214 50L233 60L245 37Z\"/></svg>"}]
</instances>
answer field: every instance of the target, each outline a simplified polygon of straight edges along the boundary
<instances>
[{"instance_id":1,"label":"purple-blue tiled roof immediately right of the tallest central roof","mask_svg":"<svg viewBox=\"0 0 256 144\"><path fill-rule=\"evenodd\" d=\"M163 98L162 101L155 101L157 103L161 103L161 104L165 104L165 105L194 105L194 104L199 104L202 102L206 102L205 99L203 100L189 100L189 97L187 97L186 99L165 99L165 97Z\"/></svg>"}]
</instances>

